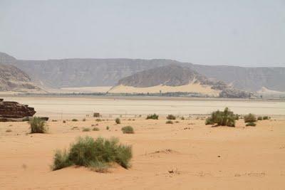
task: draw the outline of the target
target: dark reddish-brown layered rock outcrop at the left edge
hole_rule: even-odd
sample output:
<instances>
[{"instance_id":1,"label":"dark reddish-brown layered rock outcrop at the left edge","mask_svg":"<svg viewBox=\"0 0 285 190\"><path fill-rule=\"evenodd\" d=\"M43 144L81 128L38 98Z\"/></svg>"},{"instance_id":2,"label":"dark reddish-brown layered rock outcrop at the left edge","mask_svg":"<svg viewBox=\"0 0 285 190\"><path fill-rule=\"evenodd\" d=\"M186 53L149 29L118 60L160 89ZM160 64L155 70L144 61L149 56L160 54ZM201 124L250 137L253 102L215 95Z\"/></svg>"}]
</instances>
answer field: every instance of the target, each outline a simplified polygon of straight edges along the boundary
<instances>
[{"instance_id":1,"label":"dark reddish-brown layered rock outcrop at the left edge","mask_svg":"<svg viewBox=\"0 0 285 190\"><path fill-rule=\"evenodd\" d=\"M4 118L21 118L31 117L36 111L33 107L22 105L18 102L4 101L0 99L0 117Z\"/></svg>"}]
</instances>

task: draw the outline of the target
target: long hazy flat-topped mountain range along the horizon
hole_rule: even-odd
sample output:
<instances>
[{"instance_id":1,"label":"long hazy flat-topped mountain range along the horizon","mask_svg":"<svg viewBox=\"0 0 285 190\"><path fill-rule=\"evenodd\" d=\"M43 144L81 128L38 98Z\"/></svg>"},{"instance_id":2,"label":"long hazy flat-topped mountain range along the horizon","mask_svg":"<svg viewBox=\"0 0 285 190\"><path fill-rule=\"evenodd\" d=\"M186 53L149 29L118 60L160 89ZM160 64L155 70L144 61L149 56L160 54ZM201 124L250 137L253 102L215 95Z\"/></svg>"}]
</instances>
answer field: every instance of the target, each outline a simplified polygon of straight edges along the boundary
<instances>
[{"instance_id":1,"label":"long hazy flat-topped mountain range along the horizon","mask_svg":"<svg viewBox=\"0 0 285 190\"><path fill-rule=\"evenodd\" d=\"M285 68L242 68L224 65L197 65L176 60L73 58L58 60L17 60L0 53L0 60L24 70L38 85L53 88L115 85L121 78L142 70L176 64L240 90L261 88L285 91ZM1 62L0 62L1 63Z\"/></svg>"}]
</instances>

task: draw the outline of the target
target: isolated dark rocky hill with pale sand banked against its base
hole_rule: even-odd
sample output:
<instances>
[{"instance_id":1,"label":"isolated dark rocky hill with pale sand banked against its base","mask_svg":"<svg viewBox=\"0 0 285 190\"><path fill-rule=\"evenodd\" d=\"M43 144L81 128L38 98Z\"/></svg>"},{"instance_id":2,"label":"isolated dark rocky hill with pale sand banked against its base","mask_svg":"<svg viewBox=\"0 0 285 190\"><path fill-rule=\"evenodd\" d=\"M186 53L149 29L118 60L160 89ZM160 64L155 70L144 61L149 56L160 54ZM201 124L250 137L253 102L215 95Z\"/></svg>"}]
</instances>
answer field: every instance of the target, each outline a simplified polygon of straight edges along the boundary
<instances>
[{"instance_id":1,"label":"isolated dark rocky hill with pale sand banked against its base","mask_svg":"<svg viewBox=\"0 0 285 190\"><path fill-rule=\"evenodd\" d=\"M189 67L166 65L119 80L108 93L190 93L196 96L249 97L220 80L210 80Z\"/></svg>"}]
</instances>

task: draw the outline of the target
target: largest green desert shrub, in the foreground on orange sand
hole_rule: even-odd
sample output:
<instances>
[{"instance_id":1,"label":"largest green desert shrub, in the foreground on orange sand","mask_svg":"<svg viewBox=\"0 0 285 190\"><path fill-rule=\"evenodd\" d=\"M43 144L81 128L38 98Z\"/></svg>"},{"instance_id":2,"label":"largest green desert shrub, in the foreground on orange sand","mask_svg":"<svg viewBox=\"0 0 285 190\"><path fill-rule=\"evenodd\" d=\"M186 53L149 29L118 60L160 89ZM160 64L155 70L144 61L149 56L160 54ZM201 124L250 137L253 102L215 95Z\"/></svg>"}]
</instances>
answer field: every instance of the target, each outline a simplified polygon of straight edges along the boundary
<instances>
[{"instance_id":1,"label":"largest green desert shrub, in the foreground on orange sand","mask_svg":"<svg viewBox=\"0 0 285 190\"><path fill-rule=\"evenodd\" d=\"M119 144L117 138L78 137L68 152L56 151L51 169L62 169L71 165L90 167L94 171L108 169L116 162L128 169L132 158L132 147Z\"/></svg>"}]
</instances>

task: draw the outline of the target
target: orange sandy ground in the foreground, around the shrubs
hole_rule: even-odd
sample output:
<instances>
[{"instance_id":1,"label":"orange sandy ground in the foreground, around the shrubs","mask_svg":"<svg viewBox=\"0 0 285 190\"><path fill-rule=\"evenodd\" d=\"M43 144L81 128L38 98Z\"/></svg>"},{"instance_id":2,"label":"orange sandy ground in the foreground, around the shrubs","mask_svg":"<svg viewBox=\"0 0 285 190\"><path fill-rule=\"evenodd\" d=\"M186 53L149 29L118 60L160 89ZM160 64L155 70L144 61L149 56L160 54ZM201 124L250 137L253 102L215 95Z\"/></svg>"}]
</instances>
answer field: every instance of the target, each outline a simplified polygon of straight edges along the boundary
<instances>
[{"instance_id":1,"label":"orange sandy ground in the foreground, around the shrubs","mask_svg":"<svg viewBox=\"0 0 285 190\"><path fill-rule=\"evenodd\" d=\"M1 122L0 189L284 189L285 118L257 127L244 127L242 120L237 127L209 127L204 120L166 125L162 117L132 119L120 125L93 118L48 122L49 134L26 134L26 122ZM99 132L82 132L96 123ZM135 134L123 134L125 125ZM51 171L54 151L85 135L132 144L132 167L107 174L84 167Z\"/></svg>"}]
</instances>

